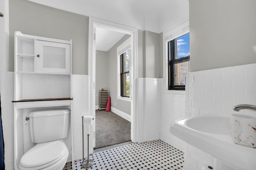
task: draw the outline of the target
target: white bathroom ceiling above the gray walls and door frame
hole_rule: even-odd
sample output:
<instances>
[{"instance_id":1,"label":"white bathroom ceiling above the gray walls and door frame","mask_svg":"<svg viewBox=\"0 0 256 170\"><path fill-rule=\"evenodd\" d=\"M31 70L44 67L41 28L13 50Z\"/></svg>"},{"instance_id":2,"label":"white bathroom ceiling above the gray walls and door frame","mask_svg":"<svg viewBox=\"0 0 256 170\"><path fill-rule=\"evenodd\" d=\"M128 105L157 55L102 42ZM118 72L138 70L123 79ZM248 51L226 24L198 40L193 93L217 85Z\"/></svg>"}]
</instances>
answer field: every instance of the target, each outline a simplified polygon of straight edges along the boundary
<instances>
[{"instance_id":1,"label":"white bathroom ceiling above the gray walls and door frame","mask_svg":"<svg viewBox=\"0 0 256 170\"><path fill-rule=\"evenodd\" d=\"M188 0L30 0L92 18L161 33L186 20Z\"/></svg>"}]
</instances>

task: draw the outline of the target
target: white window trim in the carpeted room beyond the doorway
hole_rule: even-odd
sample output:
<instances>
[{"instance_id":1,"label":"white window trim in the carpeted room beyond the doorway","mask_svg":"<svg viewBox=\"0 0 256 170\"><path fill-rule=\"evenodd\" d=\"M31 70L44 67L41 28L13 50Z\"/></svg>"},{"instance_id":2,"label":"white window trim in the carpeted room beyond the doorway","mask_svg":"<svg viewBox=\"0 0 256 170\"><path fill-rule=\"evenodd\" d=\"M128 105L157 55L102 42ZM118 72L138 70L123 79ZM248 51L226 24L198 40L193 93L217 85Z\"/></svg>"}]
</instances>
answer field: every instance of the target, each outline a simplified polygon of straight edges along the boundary
<instances>
[{"instance_id":1,"label":"white window trim in the carpeted room beyond the doorway","mask_svg":"<svg viewBox=\"0 0 256 170\"><path fill-rule=\"evenodd\" d=\"M117 54L117 99L120 99L120 100L124 100L124 101L131 101L131 95L130 97L122 97L121 96L121 79L120 79L120 55L122 53L124 53L125 51L127 50L131 50L131 44L132 44L132 39L131 38L128 38L125 42L123 42L121 45L119 45L116 49L116 54ZM129 48L128 45L130 45ZM127 48L127 49L126 49ZM131 57L132 57L132 54L130 53L130 58L129 58L129 71L130 71L130 75L131 75ZM130 77L130 94L131 94L131 77Z\"/></svg>"}]
</instances>

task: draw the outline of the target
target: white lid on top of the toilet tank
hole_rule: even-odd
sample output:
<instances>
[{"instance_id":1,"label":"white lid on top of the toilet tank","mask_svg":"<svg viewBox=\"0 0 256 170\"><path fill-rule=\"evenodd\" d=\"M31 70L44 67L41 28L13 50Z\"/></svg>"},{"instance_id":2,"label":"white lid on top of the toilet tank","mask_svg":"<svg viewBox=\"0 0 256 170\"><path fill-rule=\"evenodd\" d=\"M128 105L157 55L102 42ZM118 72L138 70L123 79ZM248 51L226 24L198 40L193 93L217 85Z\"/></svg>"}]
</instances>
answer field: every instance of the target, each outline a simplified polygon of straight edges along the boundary
<instances>
[{"instance_id":1,"label":"white lid on top of the toilet tank","mask_svg":"<svg viewBox=\"0 0 256 170\"><path fill-rule=\"evenodd\" d=\"M56 116L56 115L66 115L70 113L70 109L43 109L32 111L28 117L45 117L45 116Z\"/></svg>"}]
</instances>

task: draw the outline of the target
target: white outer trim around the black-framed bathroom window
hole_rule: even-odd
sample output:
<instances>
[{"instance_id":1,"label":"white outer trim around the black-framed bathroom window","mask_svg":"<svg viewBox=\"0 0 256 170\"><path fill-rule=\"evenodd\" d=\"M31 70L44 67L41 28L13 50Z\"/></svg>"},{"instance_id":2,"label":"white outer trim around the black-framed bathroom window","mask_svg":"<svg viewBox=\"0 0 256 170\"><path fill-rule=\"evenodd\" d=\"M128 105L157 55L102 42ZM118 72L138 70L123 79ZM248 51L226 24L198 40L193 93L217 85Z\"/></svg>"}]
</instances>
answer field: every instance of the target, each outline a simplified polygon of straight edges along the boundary
<instances>
[{"instance_id":1,"label":"white outer trim around the black-framed bathroom window","mask_svg":"<svg viewBox=\"0 0 256 170\"><path fill-rule=\"evenodd\" d=\"M163 32L163 74L164 74L164 93L185 94L184 90L168 89L168 42L189 33L189 22L186 21L179 26Z\"/></svg>"}]
</instances>

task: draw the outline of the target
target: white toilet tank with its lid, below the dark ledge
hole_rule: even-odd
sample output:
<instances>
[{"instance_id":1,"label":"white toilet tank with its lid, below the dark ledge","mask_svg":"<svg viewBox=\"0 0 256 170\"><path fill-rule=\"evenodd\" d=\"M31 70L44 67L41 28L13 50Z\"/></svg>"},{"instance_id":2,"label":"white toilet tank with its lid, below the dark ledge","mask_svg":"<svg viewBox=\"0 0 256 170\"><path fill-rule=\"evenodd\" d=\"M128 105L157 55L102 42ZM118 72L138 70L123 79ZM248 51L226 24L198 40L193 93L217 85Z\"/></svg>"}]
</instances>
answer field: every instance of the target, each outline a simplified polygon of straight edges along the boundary
<instances>
[{"instance_id":1,"label":"white toilet tank with its lid, below the dark ledge","mask_svg":"<svg viewBox=\"0 0 256 170\"><path fill-rule=\"evenodd\" d=\"M60 140L68 136L70 109L44 109L32 111L29 130L32 143Z\"/></svg>"}]
</instances>

